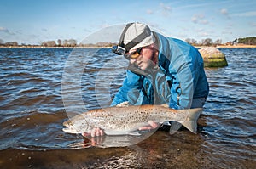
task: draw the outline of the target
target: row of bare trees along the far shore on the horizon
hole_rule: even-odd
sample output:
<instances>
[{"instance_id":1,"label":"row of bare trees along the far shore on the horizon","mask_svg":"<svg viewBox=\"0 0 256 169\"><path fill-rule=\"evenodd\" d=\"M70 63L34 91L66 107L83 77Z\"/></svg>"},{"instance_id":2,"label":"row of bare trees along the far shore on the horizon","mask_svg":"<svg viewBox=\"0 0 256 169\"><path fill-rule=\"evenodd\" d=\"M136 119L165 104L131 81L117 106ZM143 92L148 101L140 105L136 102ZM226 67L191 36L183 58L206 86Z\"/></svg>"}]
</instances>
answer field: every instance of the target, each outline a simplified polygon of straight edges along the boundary
<instances>
[{"instance_id":1,"label":"row of bare trees along the far shore on the horizon","mask_svg":"<svg viewBox=\"0 0 256 169\"><path fill-rule=\"evenodd\" d=\"M217 46L221 45L222 40L217 39L216 41L212 41L211 38L202 39L201 41L196 41L193 38L187 38L185 40L189 44L193 46ZM247 45L256 45L256 37L243 37L243 38L237 38L234 41L226 42L224 44L228 45L234 45L237 43L247 44ZM39 42L39 45L26 45L25 43L21 43L21 45L18 44L18 42L3 42L2 39L0 39L0 46L41 46L41 47L112 47L116 43L113 42L97 42L97 43L79 43L75 39L65 39L61 40L58 39L55 41L45 41L45 42Z\"/></svg>"}]
</instances>

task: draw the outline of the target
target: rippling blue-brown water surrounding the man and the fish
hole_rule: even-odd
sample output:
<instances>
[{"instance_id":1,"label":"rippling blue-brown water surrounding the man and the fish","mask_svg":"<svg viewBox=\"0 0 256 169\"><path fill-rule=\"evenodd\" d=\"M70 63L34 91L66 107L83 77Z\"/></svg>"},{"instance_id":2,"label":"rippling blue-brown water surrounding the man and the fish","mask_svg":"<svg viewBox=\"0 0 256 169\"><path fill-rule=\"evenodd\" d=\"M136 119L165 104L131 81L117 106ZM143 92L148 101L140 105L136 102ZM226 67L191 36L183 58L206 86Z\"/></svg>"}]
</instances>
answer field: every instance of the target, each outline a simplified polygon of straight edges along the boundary
<instances>
[{"instance_id":1,"label":"rippling blue-brown water surrounding the man and the fish","mask_svg":"<svg viewBox=\"0 0 256 169\"><path fill-rule=\"evenodd\" d=\"M125 59L109 49L0 48L0 168L255 168L256 48L220 50L229 66L206 69L197 134L158 131L130 147L71 149L83 138L62 132L62 122L108 106Z\"/></svg>"}]
</instances>

